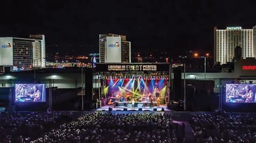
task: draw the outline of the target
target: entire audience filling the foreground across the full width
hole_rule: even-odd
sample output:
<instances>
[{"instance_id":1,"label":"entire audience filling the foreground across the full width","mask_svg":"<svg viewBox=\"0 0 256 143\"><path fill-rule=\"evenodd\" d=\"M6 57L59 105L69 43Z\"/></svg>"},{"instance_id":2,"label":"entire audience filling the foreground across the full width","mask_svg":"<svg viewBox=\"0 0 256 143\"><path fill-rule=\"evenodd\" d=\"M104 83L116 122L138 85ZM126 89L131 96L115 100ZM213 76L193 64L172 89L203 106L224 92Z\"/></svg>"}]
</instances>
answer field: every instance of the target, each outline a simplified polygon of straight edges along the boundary
<instances>
[{"instance_id":1,"label":"entire audience filling the foreground across the full width","mask_svg":"<svg viewBox=\"0 0 256 143\"><path fill-rule=\"evenodd\" d=\"M256 142L255 117L191 113L193 142ZM184 142L180 128L166 112L14 112L0 117L0 142Z\"/></svg>"}]
</instances>

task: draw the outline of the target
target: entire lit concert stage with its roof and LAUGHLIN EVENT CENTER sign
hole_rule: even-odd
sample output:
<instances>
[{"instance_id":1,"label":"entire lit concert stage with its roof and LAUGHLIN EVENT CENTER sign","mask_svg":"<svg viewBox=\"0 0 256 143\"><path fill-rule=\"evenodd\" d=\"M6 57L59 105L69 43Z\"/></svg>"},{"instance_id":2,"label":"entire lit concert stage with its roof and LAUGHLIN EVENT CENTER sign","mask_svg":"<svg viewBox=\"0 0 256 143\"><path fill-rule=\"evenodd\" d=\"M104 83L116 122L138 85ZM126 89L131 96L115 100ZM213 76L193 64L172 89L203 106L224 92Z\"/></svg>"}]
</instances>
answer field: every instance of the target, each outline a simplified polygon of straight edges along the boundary
<instances>
[{"instance_id":1,"label":"entire lit concert stage with its roof and LAUGHLIN EVENT CENTER sign","mask_svg":"<svg viewBox=\"0 0 256 143\"><path fill-rule=\"evenodd\" d=\"M169 63L99 63L94 74L93 92L102 106L97 111L132 110L132 102L135 110L167 110Z\"/></svg>"}]
</instances>

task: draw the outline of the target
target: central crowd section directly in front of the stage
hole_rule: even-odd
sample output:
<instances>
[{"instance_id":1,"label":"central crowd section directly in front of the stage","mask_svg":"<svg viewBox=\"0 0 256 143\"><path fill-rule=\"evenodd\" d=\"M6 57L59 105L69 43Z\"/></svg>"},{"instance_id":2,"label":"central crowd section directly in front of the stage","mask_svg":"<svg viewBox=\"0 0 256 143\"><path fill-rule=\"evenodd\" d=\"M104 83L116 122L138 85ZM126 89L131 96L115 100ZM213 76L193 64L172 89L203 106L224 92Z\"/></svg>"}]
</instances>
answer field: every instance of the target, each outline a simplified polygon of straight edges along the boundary
<instances>
[{"instance_id":1,"label":"central crowd section directly in front of the stage","mask_svg":"<svg viewBox=\"0 0 256 143\"><path fill-rule=\"evenodd\" d=\"M34 142L178 142L171 114L87 112Z\"/></svg>"}]
</instances>

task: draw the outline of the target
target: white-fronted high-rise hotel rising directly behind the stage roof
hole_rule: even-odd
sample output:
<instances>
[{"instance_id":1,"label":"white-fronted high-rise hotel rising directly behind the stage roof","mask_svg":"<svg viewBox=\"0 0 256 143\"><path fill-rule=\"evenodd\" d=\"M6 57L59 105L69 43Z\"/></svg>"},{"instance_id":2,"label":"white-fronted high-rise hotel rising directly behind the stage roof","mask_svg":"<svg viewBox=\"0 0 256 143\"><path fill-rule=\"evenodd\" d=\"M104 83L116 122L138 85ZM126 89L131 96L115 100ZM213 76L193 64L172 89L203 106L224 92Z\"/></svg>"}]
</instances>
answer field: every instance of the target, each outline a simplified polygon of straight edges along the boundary
<instances>
[{"instance_id":1,"label":"white-fronted high-rise hotel rising directly behind the stage roof","mask_svg":"<svg viewBox=\"0 0 256 143\"><path fill-rule=\"evenodd\" d=\"M99 62L131 62L131 42L125 35L99 35Z\"/></svg>"}]
</instances>

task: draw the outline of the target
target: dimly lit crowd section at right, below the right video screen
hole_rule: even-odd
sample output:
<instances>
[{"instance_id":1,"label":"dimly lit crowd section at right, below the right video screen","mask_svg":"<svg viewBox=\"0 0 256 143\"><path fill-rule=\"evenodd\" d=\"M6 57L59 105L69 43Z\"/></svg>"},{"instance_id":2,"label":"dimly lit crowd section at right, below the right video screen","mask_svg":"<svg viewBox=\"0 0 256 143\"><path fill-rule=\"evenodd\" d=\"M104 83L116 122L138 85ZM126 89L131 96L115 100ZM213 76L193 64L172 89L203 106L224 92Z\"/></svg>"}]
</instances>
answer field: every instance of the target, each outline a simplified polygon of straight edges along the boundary
<instances>
[{"instance_id":1,"label":"dimly lit crowd section at right, below the right video screen","mask_svg":"<svg viewBox=\"0 0 256 143\"><path fill-rule=\"evenodd\" d=\"M193 113L190 125L194 142L256 142L253 115L232 113Z\"/></svg>"}]
</instances>

